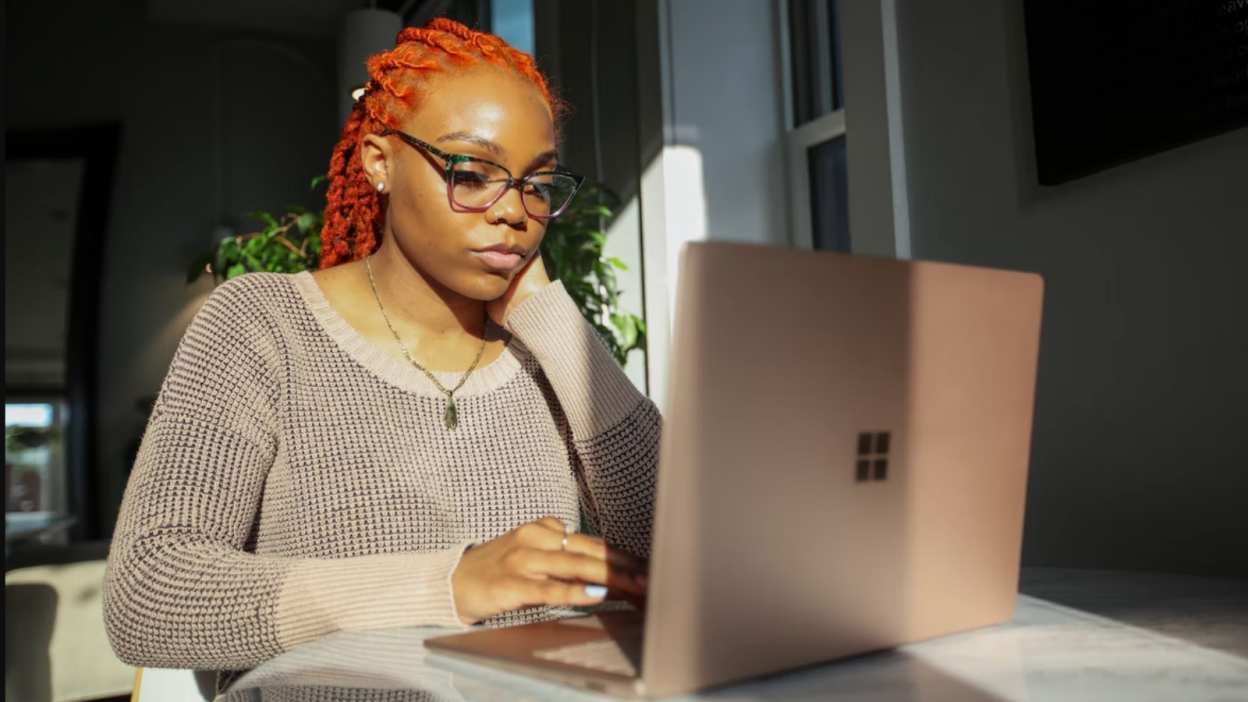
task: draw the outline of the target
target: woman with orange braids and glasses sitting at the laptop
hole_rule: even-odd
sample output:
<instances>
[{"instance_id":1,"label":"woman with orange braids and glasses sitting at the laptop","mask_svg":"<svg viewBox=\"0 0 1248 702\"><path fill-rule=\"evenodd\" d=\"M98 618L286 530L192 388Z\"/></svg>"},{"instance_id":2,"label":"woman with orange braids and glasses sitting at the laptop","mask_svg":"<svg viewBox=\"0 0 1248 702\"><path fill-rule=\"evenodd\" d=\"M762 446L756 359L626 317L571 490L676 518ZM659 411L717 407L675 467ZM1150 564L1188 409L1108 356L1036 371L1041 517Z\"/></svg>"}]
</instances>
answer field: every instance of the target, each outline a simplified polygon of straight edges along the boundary
<instances>
[{"instance_id":1,"label":"woman with orange braids and glasses sitting at the laptop","mask_svg":"<svg viewBox=\"0 0 1248 702\"><path fill-rule=\"evenodd\" d=\"M559 102L448 20L368 69L322 270L218 287L165 380L109 558L129 663L645 593L660 417L538 256L580 181ZM582 510L603 538L568 533Z\"/></svg>"}]
</instances>

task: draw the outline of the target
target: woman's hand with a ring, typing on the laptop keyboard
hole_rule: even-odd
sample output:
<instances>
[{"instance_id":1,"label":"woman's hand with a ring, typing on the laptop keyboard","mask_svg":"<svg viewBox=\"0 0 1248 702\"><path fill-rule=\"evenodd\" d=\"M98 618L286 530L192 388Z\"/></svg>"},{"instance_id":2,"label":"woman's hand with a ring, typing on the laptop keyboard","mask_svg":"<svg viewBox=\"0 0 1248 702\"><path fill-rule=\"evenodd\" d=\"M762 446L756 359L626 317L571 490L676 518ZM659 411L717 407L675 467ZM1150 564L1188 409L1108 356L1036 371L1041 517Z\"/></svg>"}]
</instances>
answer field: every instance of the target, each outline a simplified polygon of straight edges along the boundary
<instances>
[{"instance_id":1,"label":"woman's hand with a ring, typing on the laptop keyboard","mask_svg":"<svg viewBox=\"0 0 1248 702\"><path fill-rule=\"evenodd\" d=\"M487 617L540 605L598 605L608 593L639 603L646 563L598 537L568 536L563 522L543 517L469 548L451 576L459 618Z\"/></svg>"}]
</instances>

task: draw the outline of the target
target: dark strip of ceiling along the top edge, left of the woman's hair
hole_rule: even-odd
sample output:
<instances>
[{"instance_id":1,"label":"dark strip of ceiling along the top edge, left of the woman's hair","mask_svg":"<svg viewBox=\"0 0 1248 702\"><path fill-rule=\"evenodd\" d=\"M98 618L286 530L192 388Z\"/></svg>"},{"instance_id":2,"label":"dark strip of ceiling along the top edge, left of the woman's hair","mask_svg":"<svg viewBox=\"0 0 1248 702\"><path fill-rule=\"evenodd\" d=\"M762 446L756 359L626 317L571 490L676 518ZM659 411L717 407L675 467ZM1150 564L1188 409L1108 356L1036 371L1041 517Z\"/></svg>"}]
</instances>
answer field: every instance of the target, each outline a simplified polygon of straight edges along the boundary
<instances>
[{"instance_id":1,"label":"dark strip of ceiling along the top edge, left of the woman's hair","mask_svg":"<svg viewBox=\"0 0 1248 702\"><path fill-rule=\"evenodd\" d=\"M149 0L152 21L334 39L351 10L369 5L414 11L429 0Z\"/></svg>"}]
</instances>

